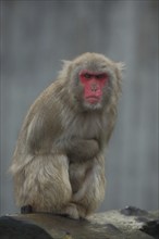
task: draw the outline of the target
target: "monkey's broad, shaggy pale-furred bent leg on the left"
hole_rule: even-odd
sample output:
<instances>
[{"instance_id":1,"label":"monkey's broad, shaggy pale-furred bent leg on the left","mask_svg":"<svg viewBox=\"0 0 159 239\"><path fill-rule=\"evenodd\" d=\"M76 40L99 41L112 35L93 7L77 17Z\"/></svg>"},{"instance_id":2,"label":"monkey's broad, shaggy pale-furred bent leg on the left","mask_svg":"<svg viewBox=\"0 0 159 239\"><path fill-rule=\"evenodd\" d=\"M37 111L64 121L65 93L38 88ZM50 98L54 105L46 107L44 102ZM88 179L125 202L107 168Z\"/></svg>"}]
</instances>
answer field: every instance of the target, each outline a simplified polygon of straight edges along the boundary
<instances>
[{"instance_id":1,"label":"monkey's broad, shaggy pale-furred bent leg on the left","mask_svg":"<svg viewBox=\"0 0 159 239\"><path fill-rule=\"evenodd\" d=\"M30 205L33 212L62 213L72 198L68 167L65 155L34 156L14 174L17 205Z\"/></svg>"}]
</instances>

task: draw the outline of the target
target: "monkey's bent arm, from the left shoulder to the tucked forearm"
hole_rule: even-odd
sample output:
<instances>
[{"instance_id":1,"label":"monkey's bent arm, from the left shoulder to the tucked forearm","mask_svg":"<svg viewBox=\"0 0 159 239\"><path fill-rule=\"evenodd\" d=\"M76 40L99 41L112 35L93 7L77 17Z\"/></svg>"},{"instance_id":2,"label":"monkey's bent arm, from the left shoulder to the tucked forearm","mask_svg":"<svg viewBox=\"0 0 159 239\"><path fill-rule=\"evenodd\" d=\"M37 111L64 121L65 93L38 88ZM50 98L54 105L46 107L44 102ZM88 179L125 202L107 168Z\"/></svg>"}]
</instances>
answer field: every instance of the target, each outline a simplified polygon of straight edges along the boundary
<instances>
[{"instance_id":1,"label":"monkey's bent arm, from the left shoulder to the tucked forearm","mask_svg":"<svg viewBox=\"0 0 159 239\"><path fill-rule=\"evenodd\" d=\"M57 101L51 101L51 105L46 105L41 101L40 109L37 103L34 105L34 114L30 111L32 120L26 122L26 144L34 153L65 154L73 161L87 161L95 158L99 152L99 143L96 139L80 138L72 135L71 130L62 125L61 109ZM58 101L60 102L60 100ZM54 114L50 113L53 109Z\"/></svg>"}]
</instances>

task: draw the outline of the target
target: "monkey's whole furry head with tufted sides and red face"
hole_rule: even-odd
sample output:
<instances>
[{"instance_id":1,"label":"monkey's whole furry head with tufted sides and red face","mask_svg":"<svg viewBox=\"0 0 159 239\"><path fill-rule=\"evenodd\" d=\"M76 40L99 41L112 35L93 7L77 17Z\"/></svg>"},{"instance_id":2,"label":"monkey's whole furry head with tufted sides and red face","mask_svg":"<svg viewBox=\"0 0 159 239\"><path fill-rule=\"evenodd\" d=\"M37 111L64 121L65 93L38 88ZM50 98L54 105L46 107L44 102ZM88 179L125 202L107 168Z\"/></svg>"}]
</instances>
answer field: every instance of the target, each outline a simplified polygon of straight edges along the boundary
<instances>
[{"instance_id":1,"label":"monkey's whole furry head with tufted sides and red face","mask_svg":"<svg viewBox=\"0 0 159 239\"><path fill-rule=\"evenodd\" d=\"M71 103L84 111L100 110L118 98L122 63L114 63L102 54L84 53L72 62L64 62Z\"/></svg>"}]
</instances>

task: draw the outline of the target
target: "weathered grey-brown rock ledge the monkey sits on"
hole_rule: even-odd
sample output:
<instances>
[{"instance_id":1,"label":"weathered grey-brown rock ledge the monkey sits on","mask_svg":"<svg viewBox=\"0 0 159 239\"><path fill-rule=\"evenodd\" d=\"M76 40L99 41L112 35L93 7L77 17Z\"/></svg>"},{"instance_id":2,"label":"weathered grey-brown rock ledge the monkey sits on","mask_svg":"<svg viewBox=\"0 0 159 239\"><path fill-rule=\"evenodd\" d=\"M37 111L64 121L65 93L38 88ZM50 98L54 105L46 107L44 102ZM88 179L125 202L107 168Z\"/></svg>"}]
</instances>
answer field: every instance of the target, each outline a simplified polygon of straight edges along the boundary
<instances>
[{"instance_id":1,"label":"weathered grey-brown rock ledge the monkey sits on","mask_svg":"<svg viewBox=\"0 0 159 239\"><path fill-rule=\"evenodd\" d=\"M15 214L0 217L0 238L157 239L158 215L158 212L147 212L134 206L97 213L87 221L47 213Z\"/></svg>"}]
</instances>

